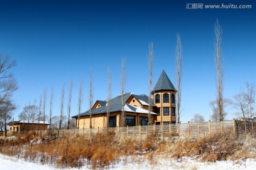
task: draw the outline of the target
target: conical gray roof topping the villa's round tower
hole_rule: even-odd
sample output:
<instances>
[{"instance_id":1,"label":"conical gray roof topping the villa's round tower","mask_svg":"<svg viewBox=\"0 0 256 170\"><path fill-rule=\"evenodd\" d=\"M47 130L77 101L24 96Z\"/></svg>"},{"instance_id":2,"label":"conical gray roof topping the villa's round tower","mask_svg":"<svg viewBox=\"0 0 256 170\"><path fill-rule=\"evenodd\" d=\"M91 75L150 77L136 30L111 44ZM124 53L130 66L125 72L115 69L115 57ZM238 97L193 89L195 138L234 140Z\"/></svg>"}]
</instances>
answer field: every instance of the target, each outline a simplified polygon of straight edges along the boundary
<instances>
[{"instance_id":1,"label":"conical gray roof topping the villa's round tower","mask_svg":"<svg viewBox=\"0 0 256 170\"><path fill-rule=\"evenodd\" d=\"M163 90L176 91L176 89L174 88L174 84L171 83L171 80L166 75L166 72L164 72L164 70L161 73L161 76L159 77L159 80L157 81L153 91L163 91Z\"/></svg>"}]
</instances>

